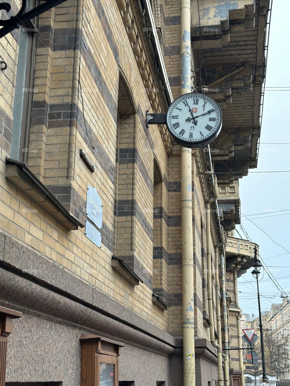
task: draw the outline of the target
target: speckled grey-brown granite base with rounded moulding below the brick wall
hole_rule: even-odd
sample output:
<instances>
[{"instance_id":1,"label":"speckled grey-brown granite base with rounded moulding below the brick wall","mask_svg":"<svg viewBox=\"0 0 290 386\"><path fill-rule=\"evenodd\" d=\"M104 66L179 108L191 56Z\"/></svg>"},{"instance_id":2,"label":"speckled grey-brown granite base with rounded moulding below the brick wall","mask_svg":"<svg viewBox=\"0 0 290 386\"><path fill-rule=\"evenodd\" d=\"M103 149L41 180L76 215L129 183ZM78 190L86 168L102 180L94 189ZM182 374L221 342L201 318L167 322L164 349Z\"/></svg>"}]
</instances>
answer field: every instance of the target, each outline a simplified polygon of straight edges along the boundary
<instances>
[{"instance_id":1,"label":"speckled grey-brown granite base with rounded moulding below the brick wall","mask_svg":"<svg viewBox=\"0 0 290 386\"><path fill-rule=\"evenodd\" d=\"M7 386L79 386L81 334L125 344L119 381L134 386L183 384L182 339L10 236L0 236L0 305L23 313L14 320L8 340ZM215 385L216 350L206 339L197 338L195 345L196 385Z\"/></svg>"}]
</instances>

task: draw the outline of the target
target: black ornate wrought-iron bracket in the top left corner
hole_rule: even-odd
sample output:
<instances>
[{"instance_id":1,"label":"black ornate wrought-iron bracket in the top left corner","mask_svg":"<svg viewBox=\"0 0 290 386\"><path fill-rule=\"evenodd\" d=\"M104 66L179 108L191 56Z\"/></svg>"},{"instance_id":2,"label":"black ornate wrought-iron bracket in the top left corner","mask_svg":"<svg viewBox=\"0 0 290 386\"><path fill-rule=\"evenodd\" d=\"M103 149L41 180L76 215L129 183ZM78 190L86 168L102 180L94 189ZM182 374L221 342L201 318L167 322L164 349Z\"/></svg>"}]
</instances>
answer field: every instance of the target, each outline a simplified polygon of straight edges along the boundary
<instances>
[{"instance_id":1,"label":"black ornate wrought-iron bracket in the top left corner","mask_svg":"<svg viewBox=\"0 0 290 386\"><path fill-rule=\"evenodd\" d=\"M38 7L32 8L30 11L27 12L28 2L27 0L22 0L22 5L18 14L12 15L10 17L9 12L11 12L11 4L7 2L1 2L0 11L6 11L9 19L0 20L0 25L3 26L3 28L0 29L0 38L7 35L14 29L18 29L21 25L27 23L34 17L42 14L43 12L48 11L49 9L55 7L58 4L64 3L65 1L67 0L46 0L42 4L38 5Z\"/></svg>"}]
</instances>

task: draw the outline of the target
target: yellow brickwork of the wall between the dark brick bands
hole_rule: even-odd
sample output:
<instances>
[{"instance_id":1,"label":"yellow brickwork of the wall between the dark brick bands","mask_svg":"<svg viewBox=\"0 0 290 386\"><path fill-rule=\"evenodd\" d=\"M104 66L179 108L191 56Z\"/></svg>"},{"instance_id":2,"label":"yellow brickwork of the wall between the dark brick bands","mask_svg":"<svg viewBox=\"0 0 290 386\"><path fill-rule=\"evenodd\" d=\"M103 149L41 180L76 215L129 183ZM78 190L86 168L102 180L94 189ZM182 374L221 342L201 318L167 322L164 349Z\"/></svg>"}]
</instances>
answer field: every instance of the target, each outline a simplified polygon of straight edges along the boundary
<instances>
[{"instance_id":1,"label":"yellow brickwork of the wall between the dark brick bands","mask_svg":"<svg viewBox=\"0 0 290 386\"><path fill-rule=\"evenodd\" d=\"M123 23L122 15L115 1L101 1L104 9L108 26L112 31L112 38L116 43L116 49L119 53L119 64L115 60L113 47L107 39L107 32L104 32L104 22L100 21L94 8L93 2L84 1L84 20L82 27L82 37L87 42L89 50L92 52L94 61L99 69L99 76L104 80L112 96L112 103L118 105L118 86L119 71L123 72L131 88L133 100L140 113L137 114L137 149L142 162L148 171L148 178L154 179L154 154L158 159L162 174L168 178L170 183L180 182L180 153L179 147L174 146L174 155L167 156L167 151L162 141L158 127L150 126L144 128L142 117L145 116L145 110L150 106L151 100L148 98L148 90L142 80L140 69L138 67L136 56L132 49L132 44L128 38L127 30ZM62 29L80 28L77 20L77 8L75 0L68 0L55 9L46 12L39 18L39 26L51 26L56 32ZM81 12L78 9L78 12ZM173 2L166 5L166 15L177 15L179 5ZM136 26L140 21L136 20ZM106 24L106 23L105 23ZM142 30L139 30L142 35ZM179 44L179 26L170 26L170 31L166 27L166 44L176 46ZM15 66L9 66L11 71L0 73L0 107L12 117L15 85L15 71L17 65L17 44L15 40L8 35L2 39L0 54L15 62ZM9 47L9 49L7 48ZM8 56L9 58L8 58ZM146 52L145 52L146 54ZM82 86L82 95L78 88L78 58L80 59L80 84ZM179 56L175 55L166 58L166 66L169 76L179 76ZM120 69L119 69L120 67ZM8 83L7 83L8 82ZM46 46L37 47L36 50L36 68L35 68L35 88L34 102L44 101L49 105L75 103L82 111L84 104L85 119L87 124L94 129L97 140L106 150L109 160L115 164L116 157L116 135L117 124L106 103L106 95L96 86L96 82L86 63L84 56L75 49L53 50ZM37 87L36 87L37 86ZM179 95L179 86L172 86L172 91L177 97ZM161 110L160 110L161 112ZM70 120L69 124L64 120L60 127L46 127L45 124L33 124L30 131L29 147L34 152L29 152L28 166L33 173L45 185L68 185L72 184L83 200L86 200L87 186L91 185L97 188L102 198L103 204L103 223L110 230L114 227L114 185L107 174L97 161L96 152L85 143L80 132L76 129L76 122ZM122 117L122 122L127 127L132 126L132 118ZM146 139L145 130L152 138L152 143ZM122 146L133 147L132 137L122 137L119 141ZM95 173L92 174L83 161L80 159L79 150L84 149L87 155L96 165ZM85 237L84 229L68 232L63 228L49 213L44 212L36 203L31 201L19 188L10 184L5 179L5 157L9 156L9 149L1 147L0 173L1 185L0 206L1 229L11 234L19 242L29 248L38 251L48 259L51 259L61 266L68 269L75 276L95 285L109 296L112 296L120 303L139 313L142 317L156 323L165 330L168 329L173 335L181 335L181 297L179 304L173 305L169 311L163 312L152 303L152 291L146 284L131 286L111 267L110 251L102 245L99 249L90 240ZM121 164L118 171L122 173L130 172L130 164ZM201 259L201 229L200 220L203 219L205 226L204 213L204 191L200 186L199 178L196 177L196 163L193 159L193 181L194 181L194 252L197 264L202 266ZM117 176L118 180L119 176ZM149 225L154 228L156 222L153 219L154 200L148 185L140 171L136 168L136 201L140 206ZM128 177L126 184L131 185L131 177ZM118 191L121 199L127 199L131 196L131 188L124 184L124 191ZM118 181L120 186L120 181ZM180 191L168 191L164 188L163 207L169 217L180 215ZM168 290L169 298L175 294L181 293L181 265L164 263L161 267L161 261L153 261L154 243L148 238L147 232L142 224L136 218L136 239L135 251L138 260L142 263L144 269L154 277L158 285L161 277L161 268L163 271L163 286ZM164 249L169 254L181 253L181 227L168 227L164 219L159 221L155 227L156 235L163 222L164 229ZM123 245L126 251L130 252L130 232L131 218L118 218L118 226L125 235ZM157 237L157 236L156 236ZM212 251L213 251L212 243ZM156 246L157 241L156 241ZM128 249L129 248L129 249ZM126 252L126 253L127 253ZM129 253L128 252L128 253ZM159 267L160 266L160 267ZM158 270L158 273L155 272ZM168 278L168 284L167 284ZM195 305L195 327L196 334L209 338L209 330L203 325L203 289L202 274L199 269L194 275L194 292L201 299L201 304ZM178 297L176 298L178 299ZM213 296L215 303L215 296ZM205 305L205 308L207 305ZM216 317L215 317L216 328Z\"/></svg>"}]
</instances>

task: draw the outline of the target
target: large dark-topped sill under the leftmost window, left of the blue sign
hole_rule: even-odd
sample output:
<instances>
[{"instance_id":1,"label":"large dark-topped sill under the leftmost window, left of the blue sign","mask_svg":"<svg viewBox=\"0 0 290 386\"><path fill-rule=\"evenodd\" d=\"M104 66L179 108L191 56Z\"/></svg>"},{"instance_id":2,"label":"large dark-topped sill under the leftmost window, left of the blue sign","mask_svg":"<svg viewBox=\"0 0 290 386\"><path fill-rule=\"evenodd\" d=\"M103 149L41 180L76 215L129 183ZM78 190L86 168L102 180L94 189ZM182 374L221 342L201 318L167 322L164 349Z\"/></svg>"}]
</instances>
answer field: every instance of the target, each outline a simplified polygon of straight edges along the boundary
<instances>
[{"instance_id":1,"label":"large dark-topped sill under the leftmost window, left of the blue sign","mask_svg":"<svg viewBox=\"0 0 290 386\"><path fill-rule=\"evenodd\" d=\"M32 201L55 218L63 227L68 230L84 227L24 163L6 158L6 179L24 191Z\"/></svg>"}]
</instances>

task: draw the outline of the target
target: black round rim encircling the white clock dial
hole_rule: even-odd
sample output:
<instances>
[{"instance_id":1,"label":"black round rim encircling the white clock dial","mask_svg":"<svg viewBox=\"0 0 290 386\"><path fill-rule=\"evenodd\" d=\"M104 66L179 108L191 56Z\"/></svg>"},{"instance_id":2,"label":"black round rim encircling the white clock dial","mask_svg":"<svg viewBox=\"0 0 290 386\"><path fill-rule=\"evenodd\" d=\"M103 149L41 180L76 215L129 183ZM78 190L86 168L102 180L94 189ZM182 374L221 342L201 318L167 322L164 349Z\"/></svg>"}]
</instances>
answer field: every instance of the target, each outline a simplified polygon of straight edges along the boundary
<instances>
[{"instance_id":1,"label":"black round rim encircling the white clock dial","mask_svg":"<svg viewBox=\"0 0 290 386\"><path fill-rule=\"evenodd\" d=\"M200 96L203 98L203 96L206 98L206 99L210 99L212 100L215 105L217 105L217 108L218 108L218 112L220 113L220 123L219 123L219 126L218 128L215 130L215 132L213 132L212 135L210 135L210 137L206 138L205 140L200 140L200 141L183 141L182 139L176 137L176 135L171 131L171 127L169 125L169 122L168 122L168 118L169 118L169 112L171 110L171 107L172 105L175 105L176 104L176 101L180 100L180 99L183 99L184 97L192 97L194 98L195 96ZM209 97L208 95L203 95L202 93L187 93L187 94L183 94L183 95L180 95L180 97L176 98L172 103L171 105L169 106L168 110L167 110L167 114L166 114L166 125L167 125L167 129L169 130L169 134L171 135L171 137L173 137L174 141L181 145L181 146L184 146L184 147L188 147L190 149L196 149L198 147L202 147L202 146L205 146L205 145L208 145L210 143L212 143L218 136L218 134L220 134L220 130L222 129L222 110L220 109L220 107L218 106L218 103L216 100L214 100L212 97Z\"/></svg>"}]
</instances>

